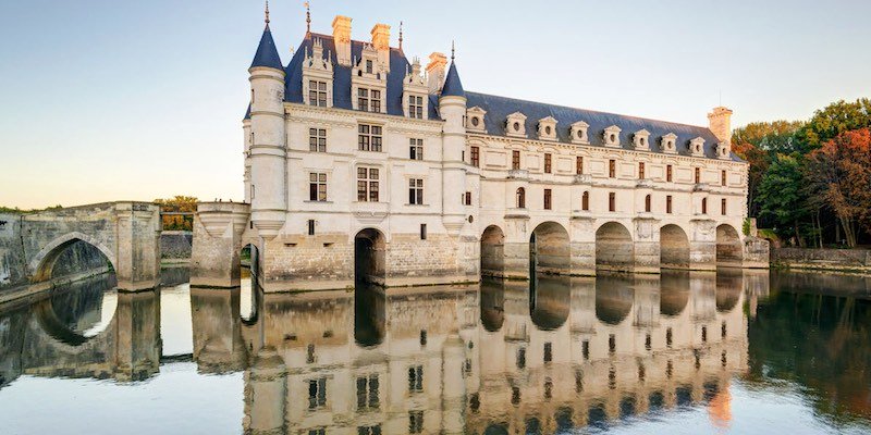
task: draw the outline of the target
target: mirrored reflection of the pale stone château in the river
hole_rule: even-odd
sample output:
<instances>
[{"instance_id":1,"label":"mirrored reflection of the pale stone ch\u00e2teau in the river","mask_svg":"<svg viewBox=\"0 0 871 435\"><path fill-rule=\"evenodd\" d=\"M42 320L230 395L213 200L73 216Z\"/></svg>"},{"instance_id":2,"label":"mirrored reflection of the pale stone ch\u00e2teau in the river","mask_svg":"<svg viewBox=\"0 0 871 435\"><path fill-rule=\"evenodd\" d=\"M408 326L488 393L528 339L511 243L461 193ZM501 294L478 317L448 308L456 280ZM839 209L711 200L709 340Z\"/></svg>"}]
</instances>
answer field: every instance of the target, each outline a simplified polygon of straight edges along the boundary
<instances>
[{"instance_id":1,"label":"mirrored reflection of the pale stone ch\u00e2teau in the river","mask_svg":"<svg viewBox=\"0 0 871 435\"><path fill-rule=\"evenodd\" d=\"M747 368L743 290L762 284L748 274L370 290L366 309L349 293L265 295L245 345L196 319L195 338L224 343L230 365L250 355L248 433L547 433L712 397L723 418Z\"/></svg>"}]
</instances>

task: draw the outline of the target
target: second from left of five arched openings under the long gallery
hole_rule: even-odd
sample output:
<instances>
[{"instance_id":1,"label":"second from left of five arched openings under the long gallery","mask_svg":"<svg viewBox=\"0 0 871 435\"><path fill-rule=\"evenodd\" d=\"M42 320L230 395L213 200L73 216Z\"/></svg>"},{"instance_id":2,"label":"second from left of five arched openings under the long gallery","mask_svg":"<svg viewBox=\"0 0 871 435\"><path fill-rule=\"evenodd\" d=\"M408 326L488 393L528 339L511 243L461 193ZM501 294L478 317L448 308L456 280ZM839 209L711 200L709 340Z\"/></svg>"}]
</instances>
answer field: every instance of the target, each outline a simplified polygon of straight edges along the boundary
<instances>
[{"instance_id":1,"label":"second from left of five arched openings under the long gallery","mask_svg":"<svg viewBox=\"0 0 871 435\"><path fill-rule=\"evenodd\" d=\"M542 222L529 237L530 276L536 272L568 274L572 264L568 231L556 222Z\"/></svg>"}]
</instances>

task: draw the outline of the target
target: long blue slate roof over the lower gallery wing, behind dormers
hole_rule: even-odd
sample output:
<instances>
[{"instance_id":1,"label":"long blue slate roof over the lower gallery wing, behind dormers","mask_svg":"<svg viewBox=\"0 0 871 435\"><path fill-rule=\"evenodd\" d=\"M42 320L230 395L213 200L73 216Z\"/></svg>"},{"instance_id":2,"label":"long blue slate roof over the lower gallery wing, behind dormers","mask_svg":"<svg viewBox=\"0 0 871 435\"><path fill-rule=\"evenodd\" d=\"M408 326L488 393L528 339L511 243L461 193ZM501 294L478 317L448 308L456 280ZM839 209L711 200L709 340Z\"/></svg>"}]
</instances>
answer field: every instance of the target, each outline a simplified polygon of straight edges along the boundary
<instances>
[{"instance_id":1,"label":"long blue slate roof over the lower gallery wing, behind dormers","mask_svg":"<svg viewBox=\"0 0 871 435\"><path fill-rule=\"evenodd\" d=\"M590 140L590 145L593 146L604 146L604 129L616 125L621 128L619 144L623 149L635 149L633 135L643 128L650 132L651 152L662 152L659 147L662 136L674 133L677 135L676 148L678 154L690 156L689 140L701 137L704 139L704 156L712 159L716 158L716 144L719 140L708 127L596 112L473 91L466 92L466 107L469 109L477 105L487 111L484 127L488 135L507 136L505 134L507 116L514 112L520 112L526 115L526 134L530 139L537 137L539 120L553 116L556 120L556 137L561 142L571 142L572 124L584 121L590 125L587 129L587 137ZM732 154L732 160L743 161L734 153Z\"/></svg>"}]
</instances>

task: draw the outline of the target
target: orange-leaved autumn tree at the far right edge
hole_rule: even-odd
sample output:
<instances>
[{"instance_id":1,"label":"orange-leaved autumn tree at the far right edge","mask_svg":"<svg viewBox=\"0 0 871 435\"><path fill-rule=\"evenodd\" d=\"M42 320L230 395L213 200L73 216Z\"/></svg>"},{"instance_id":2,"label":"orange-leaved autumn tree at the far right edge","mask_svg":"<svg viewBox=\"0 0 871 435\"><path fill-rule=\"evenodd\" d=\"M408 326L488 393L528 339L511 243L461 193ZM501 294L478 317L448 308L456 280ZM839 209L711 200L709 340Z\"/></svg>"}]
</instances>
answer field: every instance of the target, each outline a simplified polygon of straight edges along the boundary
<instances>
[{"instance_id":1,"label":"orange-leaved autumn tree at the far right edge","mask_svg":"<svg viewBox=\"0 0 871 435\"><path fill-rule=\"evenodd\" d=\"M856 247L858 228L871 232L871 130L843 132L824 142L809 154L807 175L841 221L847 245Z\"/></svg>"}]
</instances>

